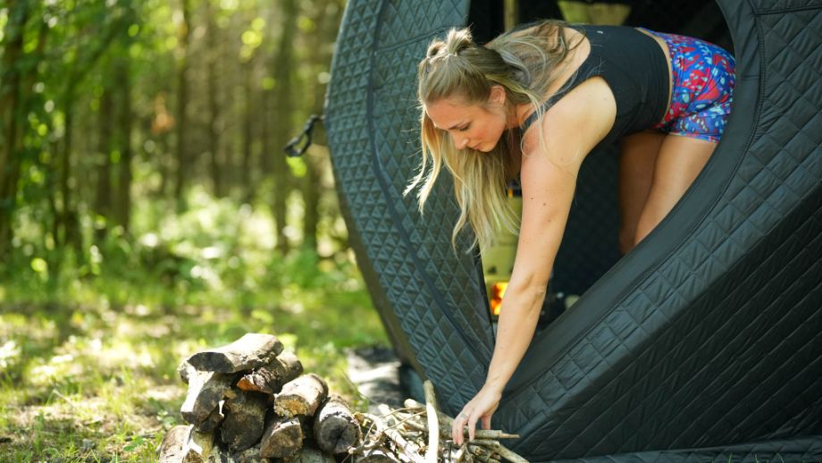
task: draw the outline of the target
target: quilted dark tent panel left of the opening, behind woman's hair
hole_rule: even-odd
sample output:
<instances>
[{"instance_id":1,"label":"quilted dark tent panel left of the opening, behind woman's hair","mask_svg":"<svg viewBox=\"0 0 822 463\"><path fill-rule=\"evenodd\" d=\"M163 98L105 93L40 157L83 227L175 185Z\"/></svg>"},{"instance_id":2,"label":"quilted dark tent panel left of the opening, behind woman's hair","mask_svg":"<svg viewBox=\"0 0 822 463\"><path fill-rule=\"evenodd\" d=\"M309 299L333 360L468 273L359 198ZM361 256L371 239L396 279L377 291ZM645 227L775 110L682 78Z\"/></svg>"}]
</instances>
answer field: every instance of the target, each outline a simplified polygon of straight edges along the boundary
<instances>
[{"instance_id":1,"label":"quilted dark tent panel left of the opening, behind woman's hair","mask_svg":"<svg viewBox=\"0 0 822 463\"><path fill-rule=\"evenodd\" d=\"M402 191L418 163L419 112L408 91L415 88L416 64L432 36L461 24L465 11L463 2L422 8L350 2L326 110L334 172L352 215L348 225L356 226L379 278L370 283L394 304L424 374L449 392L442 396L447 409L461 406L484 381L493 334L478 262L450 246L448 223L456 219L450 195L438 195L421 217ZM440 190L450 188L441 183ZM443 267L453 271L440 272Z\"/></svg>"}]
</instances>

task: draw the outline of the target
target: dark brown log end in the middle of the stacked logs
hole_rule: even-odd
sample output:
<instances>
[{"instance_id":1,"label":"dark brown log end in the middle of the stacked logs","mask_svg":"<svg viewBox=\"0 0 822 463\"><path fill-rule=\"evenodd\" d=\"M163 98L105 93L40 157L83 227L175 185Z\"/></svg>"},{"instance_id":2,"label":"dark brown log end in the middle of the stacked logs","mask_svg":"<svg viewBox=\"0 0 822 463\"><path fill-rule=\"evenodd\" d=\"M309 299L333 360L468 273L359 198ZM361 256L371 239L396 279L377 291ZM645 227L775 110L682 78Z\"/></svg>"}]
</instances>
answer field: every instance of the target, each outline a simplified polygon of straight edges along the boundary
<instances>
[{"instance_id":1,"label":"dark brown log end in the middle of the stacked logs","mask_svg":"<svg viewBox=\"0 0 822 463\"><path fill-rule=\"evenodd\" d=\"M260 440L265 426L268 398L258 392L236 391L222 407L225 419L220 439L233 452L246 450Z\"/></svg>"}]
</instances>

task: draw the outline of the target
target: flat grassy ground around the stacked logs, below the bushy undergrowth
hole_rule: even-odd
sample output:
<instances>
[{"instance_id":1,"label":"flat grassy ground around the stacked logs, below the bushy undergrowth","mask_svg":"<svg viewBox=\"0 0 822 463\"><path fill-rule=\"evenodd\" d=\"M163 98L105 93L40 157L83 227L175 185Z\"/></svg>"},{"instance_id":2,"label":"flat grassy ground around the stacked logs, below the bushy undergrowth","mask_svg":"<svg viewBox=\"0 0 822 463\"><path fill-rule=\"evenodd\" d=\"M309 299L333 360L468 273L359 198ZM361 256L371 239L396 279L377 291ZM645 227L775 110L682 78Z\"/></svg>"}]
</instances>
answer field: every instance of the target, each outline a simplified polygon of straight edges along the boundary
<instances>
[{"instance_id":1,"label":"flat grassy ground around the stacked logs, below the bushy undergrowth","mask_svg":"<svg viewBox=\"0 0 822 463\"><path fill-rule=\"evenodd\" d=\"M56 285L37 270L7 273L0 461L154 461L165 432L183 424L180 360L248 332L276 334L306 372L363 406L344 350L387 340L356 268L305 253L274 264L268 286L229 288L223 279L219 290L109 278L105 268Z\"/></svg>"}]
</instances>

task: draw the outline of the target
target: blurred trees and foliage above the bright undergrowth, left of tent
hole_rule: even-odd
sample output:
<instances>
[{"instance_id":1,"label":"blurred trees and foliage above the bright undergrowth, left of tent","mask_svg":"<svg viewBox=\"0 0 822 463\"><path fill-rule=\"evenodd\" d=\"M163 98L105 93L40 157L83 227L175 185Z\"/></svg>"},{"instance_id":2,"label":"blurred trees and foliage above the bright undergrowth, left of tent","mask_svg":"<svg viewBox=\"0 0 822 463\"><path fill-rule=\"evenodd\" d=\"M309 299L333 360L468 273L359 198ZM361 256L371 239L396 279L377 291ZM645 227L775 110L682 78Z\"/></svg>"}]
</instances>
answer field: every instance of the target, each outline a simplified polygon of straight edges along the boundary
<instances>
[{"instance_id":1,"label":"blurred trees and foliage above the bright undergrowth, left of tent","mask_svg":"<svg viewBox=\"0 0 822 463\"><path fill-rule=\"evenodd\" d=\"M282 146L322 112L343 7L6 0L0 262L85 265L106 240L146 232L138 205L185 213L191 189L270 208L282 254L339 241L324 138L302 159Z\"/></svg>"}]
</instances>

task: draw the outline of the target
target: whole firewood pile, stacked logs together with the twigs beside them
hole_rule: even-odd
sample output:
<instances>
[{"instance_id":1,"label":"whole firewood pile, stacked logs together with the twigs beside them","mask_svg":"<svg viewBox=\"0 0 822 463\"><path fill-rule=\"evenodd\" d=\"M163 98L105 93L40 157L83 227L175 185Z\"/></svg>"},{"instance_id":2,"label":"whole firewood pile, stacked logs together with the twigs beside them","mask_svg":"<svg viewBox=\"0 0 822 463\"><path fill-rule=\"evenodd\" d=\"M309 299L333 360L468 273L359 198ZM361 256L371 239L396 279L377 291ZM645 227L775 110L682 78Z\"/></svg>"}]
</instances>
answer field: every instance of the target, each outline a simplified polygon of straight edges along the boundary
<instances>
[{"instance_id":1,"label":"whole firewood pile, stacked logs together with the twigs beside them","mask_svg":"<svg viewBox=\"0 0 822 463\"><path fill-rule=\"evenodd\" d=\"M197 352L178 371L189 385L180 408L189 425L164 436L161 463L525 461L499 443L517 436L496 430L455 448L453 419L437 410L431 383L426 404L352 410L270 334Z\"/></svg>"}]
</instances>

